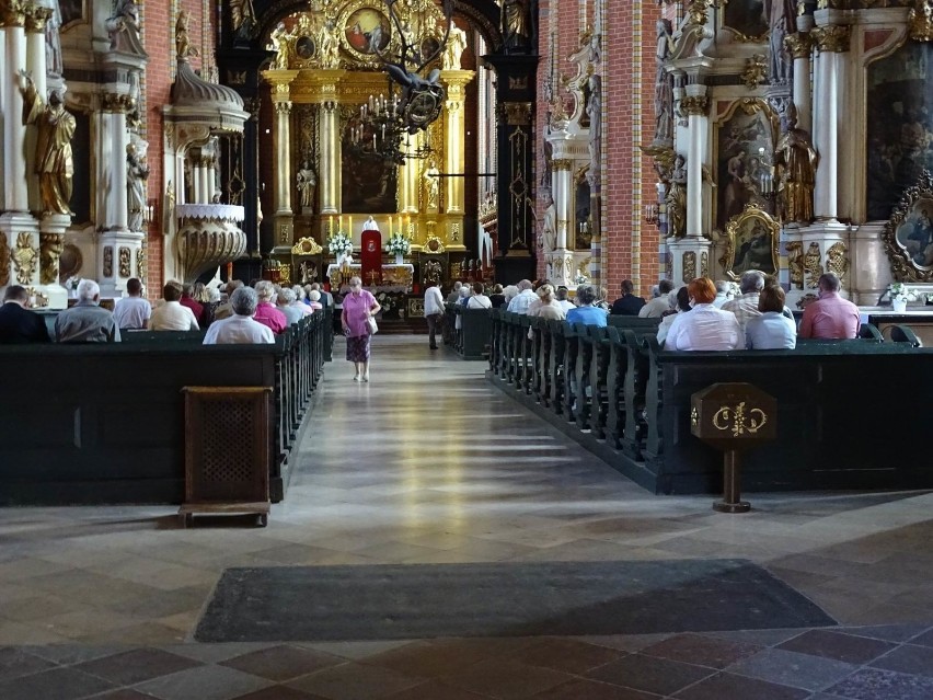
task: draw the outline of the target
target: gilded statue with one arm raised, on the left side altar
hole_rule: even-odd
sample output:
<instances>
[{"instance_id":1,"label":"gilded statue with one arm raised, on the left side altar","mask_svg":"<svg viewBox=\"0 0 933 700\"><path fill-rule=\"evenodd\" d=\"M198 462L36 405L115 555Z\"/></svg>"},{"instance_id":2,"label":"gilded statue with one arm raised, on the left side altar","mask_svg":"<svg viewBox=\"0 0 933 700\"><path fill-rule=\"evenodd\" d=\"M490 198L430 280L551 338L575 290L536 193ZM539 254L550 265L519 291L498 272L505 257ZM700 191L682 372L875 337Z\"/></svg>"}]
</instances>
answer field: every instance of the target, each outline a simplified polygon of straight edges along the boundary
<instances>
[{"instance_id":1,"label":"gilded statue with one arm raised, on the left side altar","mask_svg":"<svg viewBox=\"0 0 933 700\"><path fill-rule=\"evenodd\" d=\"M65 108L60 90L53 90L48 104L42 101L32 76L20 71L20 90L24 100L24 124L34 124L36 139L35 172L39 176L39 196L44 214L71 214L71 177L74 162L71 158L71 138L77 122Z\"/></svg>"}]
</instances>

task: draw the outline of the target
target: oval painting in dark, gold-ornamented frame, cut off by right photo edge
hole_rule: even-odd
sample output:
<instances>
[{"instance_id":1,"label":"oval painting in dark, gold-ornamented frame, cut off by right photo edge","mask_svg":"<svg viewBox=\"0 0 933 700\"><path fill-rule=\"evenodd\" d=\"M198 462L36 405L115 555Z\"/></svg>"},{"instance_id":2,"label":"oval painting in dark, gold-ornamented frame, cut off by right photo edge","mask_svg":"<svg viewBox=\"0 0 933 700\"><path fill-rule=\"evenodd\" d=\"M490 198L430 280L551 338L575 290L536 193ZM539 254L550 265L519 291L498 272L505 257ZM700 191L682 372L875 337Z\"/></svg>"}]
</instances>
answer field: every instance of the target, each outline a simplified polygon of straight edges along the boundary
<instances>
[{"instance_id":1,"label":"oval painting in dark, gold-ornamented frame, cut off by right photo edge","mask_svg":"<svg viewBox=\"0 0 933 700\"><path fill-rule=\"evenodd\" d=\"M882 232L898 282L933 279L933 174L924 171L903 194Z\"/></svg>"}]
</instances>

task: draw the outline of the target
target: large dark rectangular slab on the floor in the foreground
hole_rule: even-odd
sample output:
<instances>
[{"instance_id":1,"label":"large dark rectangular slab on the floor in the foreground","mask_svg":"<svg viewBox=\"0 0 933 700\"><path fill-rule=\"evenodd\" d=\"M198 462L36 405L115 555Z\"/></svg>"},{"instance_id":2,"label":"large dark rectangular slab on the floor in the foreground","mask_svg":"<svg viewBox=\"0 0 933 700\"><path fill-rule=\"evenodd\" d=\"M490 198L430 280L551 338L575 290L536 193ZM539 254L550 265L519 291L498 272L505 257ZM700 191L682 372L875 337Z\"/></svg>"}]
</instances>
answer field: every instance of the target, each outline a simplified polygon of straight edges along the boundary
<instances>
[{"instance_id":1,"label":"large dark rectangular slab on the floor in the foreground","mask_svg":"<svg viewBox=\"0 0 933 700\"><path fill-rule=\"evenodd\" d=\"M834 624L742 560L229 569L201 642L645 634Z\"/></svg>"}]
</instances>

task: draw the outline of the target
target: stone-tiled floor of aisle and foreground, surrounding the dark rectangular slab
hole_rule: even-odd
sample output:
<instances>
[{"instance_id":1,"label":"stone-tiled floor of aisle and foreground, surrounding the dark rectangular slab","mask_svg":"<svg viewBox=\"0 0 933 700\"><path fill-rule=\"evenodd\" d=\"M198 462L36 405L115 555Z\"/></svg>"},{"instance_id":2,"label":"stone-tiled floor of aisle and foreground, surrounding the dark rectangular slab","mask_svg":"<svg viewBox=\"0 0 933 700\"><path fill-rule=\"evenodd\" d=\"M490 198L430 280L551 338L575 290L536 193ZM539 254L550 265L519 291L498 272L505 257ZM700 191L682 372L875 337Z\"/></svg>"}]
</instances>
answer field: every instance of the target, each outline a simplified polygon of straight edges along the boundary
<instances>
[{"instance_id":1,"label":"stone-tiled floor of aisle and foreground, surrounding the dark rectangular slab","mask_svg":"<svg viewBox=\"0 0 933 700\"><path fill-rule=\"evenodd\" d=\"M338 342L339 343L339 342ZM342 354L336 347L335 357ZM377 336L326 368L266 529L174 508L0 510L0 699L933 699L933 495L657 497L530 416L482 363ZM896 459L896 452L892 452ZM820 630L200 644L228 566L746 558Z\"/></svg>"}]
</instances>

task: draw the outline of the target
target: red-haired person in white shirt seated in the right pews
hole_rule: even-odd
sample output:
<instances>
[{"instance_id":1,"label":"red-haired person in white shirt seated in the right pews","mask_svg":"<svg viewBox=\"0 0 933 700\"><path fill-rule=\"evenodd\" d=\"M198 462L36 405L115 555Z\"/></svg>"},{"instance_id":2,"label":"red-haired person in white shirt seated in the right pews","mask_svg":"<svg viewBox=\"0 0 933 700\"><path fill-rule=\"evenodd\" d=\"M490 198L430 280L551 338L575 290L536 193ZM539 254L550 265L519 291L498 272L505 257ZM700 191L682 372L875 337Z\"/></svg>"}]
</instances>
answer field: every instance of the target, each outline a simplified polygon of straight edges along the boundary
<instances>
[{"instance_id":1,"label":"red-haired person in white shirt seated in the right pews","mask_svg":"<svg viewBox=\"0 0 933 700\"><path fill-rule=\"evenodd\" d=\"M716 287L712 279L698 277L687 286L690 313L678 313L670 324L665 349L724 351L745 348L745 333L732 311L713 306Z\"/></svg>"}]
</instances>

